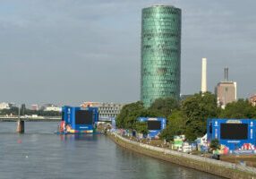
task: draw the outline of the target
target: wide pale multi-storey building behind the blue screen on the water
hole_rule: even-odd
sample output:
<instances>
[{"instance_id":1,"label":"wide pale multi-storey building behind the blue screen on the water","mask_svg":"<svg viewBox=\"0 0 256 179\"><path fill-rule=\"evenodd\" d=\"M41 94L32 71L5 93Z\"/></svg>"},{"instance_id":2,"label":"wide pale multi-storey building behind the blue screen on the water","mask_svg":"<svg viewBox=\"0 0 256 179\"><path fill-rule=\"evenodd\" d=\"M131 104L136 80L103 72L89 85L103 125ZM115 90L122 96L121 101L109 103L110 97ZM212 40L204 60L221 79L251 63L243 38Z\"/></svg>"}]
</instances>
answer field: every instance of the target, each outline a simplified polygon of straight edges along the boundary
<instances>
[{"instance_id":1,"label":"wide pale multi-storey building behind the blue screen on the water","mask_svg":"<svg viewBox=\"0 0 256 179\"><path fill-rule=\"evenodd\" d=\"M98 120L111 121L111 119L119 115L124 105L119 103L84 102L81 107L98 107Z\"/></svg>"}]
</instances>

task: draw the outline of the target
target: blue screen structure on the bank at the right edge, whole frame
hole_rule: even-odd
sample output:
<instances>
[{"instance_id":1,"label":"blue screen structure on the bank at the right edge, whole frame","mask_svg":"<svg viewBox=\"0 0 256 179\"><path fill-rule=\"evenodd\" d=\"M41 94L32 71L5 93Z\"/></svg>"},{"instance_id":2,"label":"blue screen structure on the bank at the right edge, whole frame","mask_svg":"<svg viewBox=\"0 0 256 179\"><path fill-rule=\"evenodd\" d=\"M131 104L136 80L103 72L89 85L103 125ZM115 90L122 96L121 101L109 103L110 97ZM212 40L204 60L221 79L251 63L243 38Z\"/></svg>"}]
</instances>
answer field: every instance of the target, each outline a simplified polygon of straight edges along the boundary
<instances>
[{"instance_id":1,"label":"blue screen structure on the bank at the right edge, whole frame","mask_svg":"<svg viewBox=\"0 0 256 179\"><path fill-rule=\"evenodd\" d=\"M255 119L208 119L207 141L217 138L219 154L254 152Z\"/></svg>"}]
</instances>

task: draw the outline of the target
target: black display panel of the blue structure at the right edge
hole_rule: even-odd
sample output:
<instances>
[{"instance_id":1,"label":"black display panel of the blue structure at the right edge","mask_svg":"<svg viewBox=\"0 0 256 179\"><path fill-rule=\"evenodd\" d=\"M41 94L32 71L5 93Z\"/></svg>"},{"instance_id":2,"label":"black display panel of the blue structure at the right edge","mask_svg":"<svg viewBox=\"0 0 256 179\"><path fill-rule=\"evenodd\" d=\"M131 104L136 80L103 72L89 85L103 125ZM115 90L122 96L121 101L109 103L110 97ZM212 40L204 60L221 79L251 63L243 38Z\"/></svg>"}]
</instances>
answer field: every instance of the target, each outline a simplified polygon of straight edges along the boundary
<instances>
[{"instance_id":1,"label":"black display panel of the blue structure at the right edge","mask_svg":"<svg viewBox=\"0 0 256 179\"><path fill-rule=\"evenodd\" d=\"M220 139L247 140L248 124L220 124Z\"/></svg>"}]
</instances>

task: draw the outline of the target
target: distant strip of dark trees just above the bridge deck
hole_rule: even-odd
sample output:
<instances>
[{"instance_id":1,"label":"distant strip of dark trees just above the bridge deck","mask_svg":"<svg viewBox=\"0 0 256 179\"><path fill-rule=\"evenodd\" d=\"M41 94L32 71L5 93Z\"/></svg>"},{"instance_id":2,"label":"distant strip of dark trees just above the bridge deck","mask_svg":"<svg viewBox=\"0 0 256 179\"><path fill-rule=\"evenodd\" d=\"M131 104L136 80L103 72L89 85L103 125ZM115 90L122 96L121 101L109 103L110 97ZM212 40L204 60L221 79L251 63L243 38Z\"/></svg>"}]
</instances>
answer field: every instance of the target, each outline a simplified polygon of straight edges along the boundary
<instances>
[{"instance_id":1,"label":"distant strip of dark trees just above the bridge deck","mask_svg":"<svg viewBox=\"0 0 256 179\"><path fill-rule=\"evenodd\" d=\"M10 109L0 110L0 115L19 115L19 107L11 107ZM41 116L60 116L58 111L30 110L25 106L21 106L20 115L41 115Z\"/></svg>"}]
</instances>

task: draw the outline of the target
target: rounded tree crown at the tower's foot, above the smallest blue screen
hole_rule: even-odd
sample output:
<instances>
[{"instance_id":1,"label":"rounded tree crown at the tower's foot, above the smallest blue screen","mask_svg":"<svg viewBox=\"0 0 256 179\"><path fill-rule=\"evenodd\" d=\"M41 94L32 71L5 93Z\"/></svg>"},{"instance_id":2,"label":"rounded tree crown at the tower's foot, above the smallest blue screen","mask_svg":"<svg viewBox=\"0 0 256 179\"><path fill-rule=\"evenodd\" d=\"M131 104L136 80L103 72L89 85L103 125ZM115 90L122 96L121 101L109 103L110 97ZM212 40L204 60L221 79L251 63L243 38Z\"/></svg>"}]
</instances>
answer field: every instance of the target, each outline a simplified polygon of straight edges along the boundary
<instances>
[{"instance_id":1,"label":"rounded tree crown at the tower's foot, above the smallest blue screen","mask_svg":"<svg viewBox=\"0 0 256 179\"><path fill-rule=\"evenodd\" d=\"M149 110L155 111L162 117L167 117L175 109L179 109L179 103L175 98L157 98L149 107Z\"/></svg>"}]
</instances>

